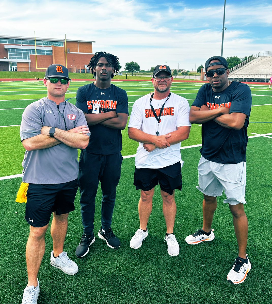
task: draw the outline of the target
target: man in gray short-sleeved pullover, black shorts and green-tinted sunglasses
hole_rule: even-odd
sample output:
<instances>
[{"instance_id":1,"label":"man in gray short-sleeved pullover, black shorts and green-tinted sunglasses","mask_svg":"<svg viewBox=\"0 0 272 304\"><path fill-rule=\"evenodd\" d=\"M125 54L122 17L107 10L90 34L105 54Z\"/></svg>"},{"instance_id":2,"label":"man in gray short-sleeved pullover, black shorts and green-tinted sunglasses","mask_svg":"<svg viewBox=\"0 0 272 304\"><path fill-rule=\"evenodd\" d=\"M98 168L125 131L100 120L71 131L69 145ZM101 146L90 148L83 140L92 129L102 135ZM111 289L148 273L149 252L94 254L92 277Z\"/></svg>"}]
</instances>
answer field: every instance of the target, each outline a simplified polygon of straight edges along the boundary
<instances>
[{"instance_id":1,"label":"man in gray short-sleeved pullover, black shorts and green-tinted sunglasses","mask_svg":"<svg viewBox=\"0 0 272 304\"><path fill-rule=\"evenodd\" d=\"M25 219L30 224L26 247L28 283L22 304L37 303L38 271L52 212L50 264L68 275L78 271L77 264L63 251L63 245L78 188L77 149L87 147L90 131L83 112L64 99L69 80L66 67L51 64L44 78L47 97L28 105L22 116L20 136L26 149L22 164L23 185L27 188Z\"/></svg>"}]
</instances>

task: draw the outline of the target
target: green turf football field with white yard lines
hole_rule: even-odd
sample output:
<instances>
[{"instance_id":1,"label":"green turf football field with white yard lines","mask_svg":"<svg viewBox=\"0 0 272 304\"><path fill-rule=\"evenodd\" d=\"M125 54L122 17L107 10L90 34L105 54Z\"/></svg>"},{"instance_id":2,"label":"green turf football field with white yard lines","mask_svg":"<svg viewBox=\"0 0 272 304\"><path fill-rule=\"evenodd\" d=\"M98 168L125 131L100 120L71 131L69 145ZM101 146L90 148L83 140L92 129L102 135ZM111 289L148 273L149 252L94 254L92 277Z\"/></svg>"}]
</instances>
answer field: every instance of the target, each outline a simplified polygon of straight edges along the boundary
<instances>
[{"instance_id":1,"label":"green turf football field with white yard lines","mask_svg":"<svg viewBox=\"0 0 272 304\"><path fill-rule=\"evenodd\" d=\"M71 81L66 100L75 104L77 88L87 81ZM136 99L152 92L151 81L113 81L126 90L129 113ZM171 92L186 98L191 105L202 83L173 82ZM249 219L247 253L252 269L244 283L227 282L227 273L238 254L231 212L218 198L214 215L215 239L197 246L184 239L202 228L202 193L198 185L197 165L200 158L201 125L193 124L188 140L181 144L184 160L182 191L175 192L177 216L174 227L180 245L177 257L169 256L164 242L166 232L162 200L156 187L153 211L149 219L149 235L141 248L129 246L139 227L140 192L133 185L134 155L138 143L123 134L123 164L117 187L112 228L121 246L112 250L97 236L101 226L101 190L98 187L95 211L95 243L86 257L78 259L75 249L81 239L82 224L79 192L75 211L69 216L64 250L78 264L76 275L68 276L50 265L52 238L45 236L45 256L39 272L39 304L239 304L271 303L272 219L272 90L267 85L249 85L252 110L248 127L247 204ZM1 250L0 303L21 303L27 283L25 246L29 225L24 220L25 204L15 202L22 181L24 148L20 142L21 116L25 107L45 97L42 81L0 81L0 189ZM50 161L50 160L48 160Z\"/></svg>"}]
</instances>

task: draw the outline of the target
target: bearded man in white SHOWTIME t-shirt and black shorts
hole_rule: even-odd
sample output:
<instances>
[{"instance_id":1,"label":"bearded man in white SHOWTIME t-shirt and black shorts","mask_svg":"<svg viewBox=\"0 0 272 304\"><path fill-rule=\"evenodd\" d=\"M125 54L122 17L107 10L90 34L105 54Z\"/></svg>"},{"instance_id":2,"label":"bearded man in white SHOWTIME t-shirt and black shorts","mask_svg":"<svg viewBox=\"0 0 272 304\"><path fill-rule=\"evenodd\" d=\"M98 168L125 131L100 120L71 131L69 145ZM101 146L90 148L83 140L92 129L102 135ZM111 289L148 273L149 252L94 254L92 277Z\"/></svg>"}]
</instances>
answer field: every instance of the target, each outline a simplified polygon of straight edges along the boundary
<instances>
[{"instance_id":1,"label":"bearded man in white SHOWTIME t-shirt and black shorts","mask_svg":"<svg viewBox=\"0 0 272 304\"><path fill-rule=\"evenodd\" d=\"M188 101L170 93L173 81L170 67L157 65L151 78L154 93L147 94L133 105L128 124L128 135L139 142L135 157L134 185L141 189L138 210L140 228L130 241L130 247L138 249L148 236L147 222L152 211L155 186L160 185L163 199L163 215L166 223L167 251L179 254L174 235L177 212L175 189L181 190L181 141L190 133L190 107Z\"/></svg>"}]
</instances>

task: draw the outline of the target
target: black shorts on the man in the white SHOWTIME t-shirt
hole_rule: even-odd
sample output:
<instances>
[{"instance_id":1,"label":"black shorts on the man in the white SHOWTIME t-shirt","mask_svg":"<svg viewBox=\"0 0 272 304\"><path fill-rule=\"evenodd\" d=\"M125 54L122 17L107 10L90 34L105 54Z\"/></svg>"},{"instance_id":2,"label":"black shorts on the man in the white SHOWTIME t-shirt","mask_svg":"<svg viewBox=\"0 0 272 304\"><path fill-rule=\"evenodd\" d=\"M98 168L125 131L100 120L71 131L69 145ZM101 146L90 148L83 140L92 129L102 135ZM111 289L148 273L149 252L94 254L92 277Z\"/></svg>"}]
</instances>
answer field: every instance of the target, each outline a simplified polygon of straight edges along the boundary
<instances>
[{"instance_id":1,"label":"black shorts on the man in the white SHOWTIME t-shirt","mask_svg":"<svg viewBox=\"0 0 272 304\"><path fill-rule=\"evenodd\" d=\"M143 191L149 191L159 184L164 192L172 195L174 189L181 190L182 187L181 163L159 169L135 168L133 184L136 190Z\"/></svg>"}]
</instances>

